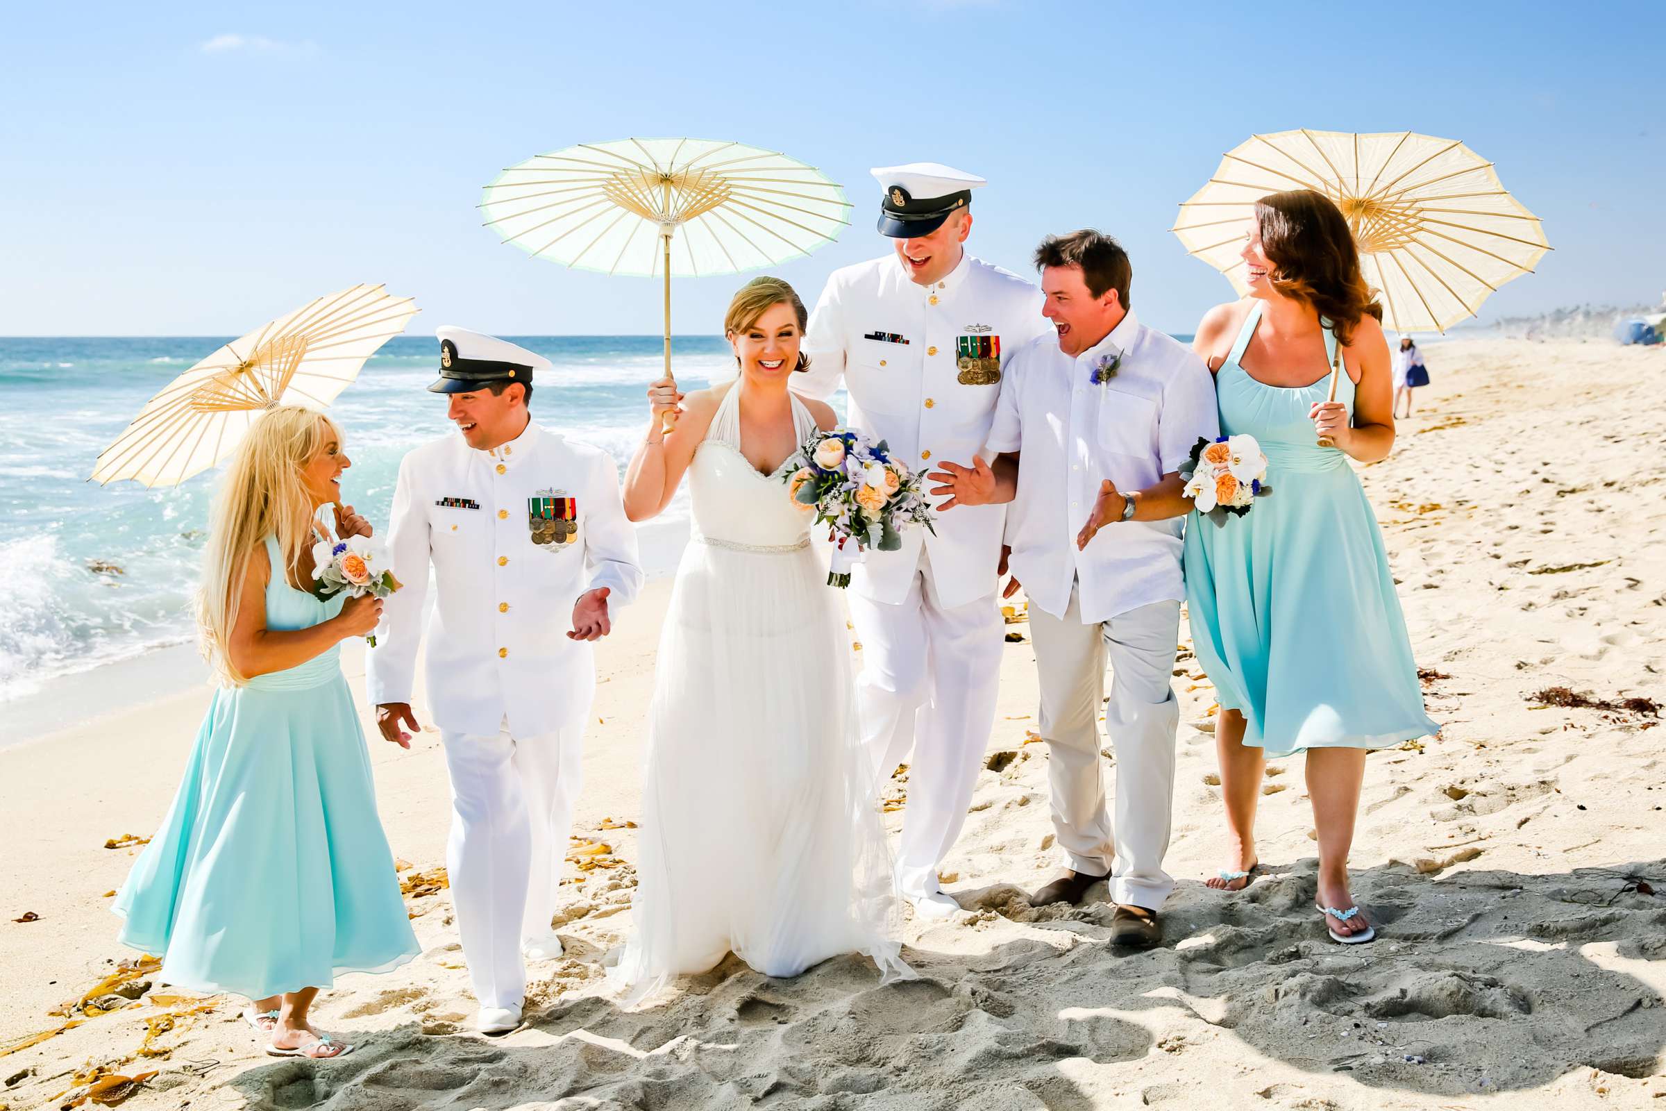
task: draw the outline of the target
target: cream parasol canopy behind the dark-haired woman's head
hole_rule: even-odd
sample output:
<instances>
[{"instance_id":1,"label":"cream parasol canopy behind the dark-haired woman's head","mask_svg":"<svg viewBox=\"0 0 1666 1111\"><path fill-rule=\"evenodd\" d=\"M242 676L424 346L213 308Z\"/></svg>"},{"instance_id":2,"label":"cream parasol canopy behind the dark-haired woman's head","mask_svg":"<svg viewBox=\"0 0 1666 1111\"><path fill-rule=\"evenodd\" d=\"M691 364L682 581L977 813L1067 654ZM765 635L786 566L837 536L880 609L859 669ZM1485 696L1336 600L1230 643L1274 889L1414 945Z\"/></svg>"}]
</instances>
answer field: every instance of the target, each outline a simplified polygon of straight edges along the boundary
<instances>
[{"instance_id":1,"label":"cream parasol canopy behind the dark-haired woman's head","mask_svg":"<svg viewBox=\"0 0 1666 1111\"><path fill-rule=\"evenodd\" d=\"M1551 250L1539 218L1511 197L1493 163L1451 138L1414 132L1276 132L1221 158L1181 203L1173 232L1186 252L1243 295L1243 225L1268 193L1309 188L1336 202L1379 290L1393 331L1444 331L1473 316Z\"/></svg>"}]
</instances>

